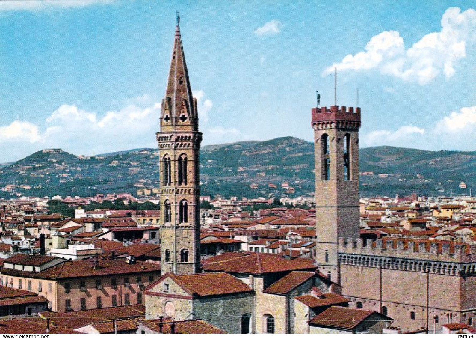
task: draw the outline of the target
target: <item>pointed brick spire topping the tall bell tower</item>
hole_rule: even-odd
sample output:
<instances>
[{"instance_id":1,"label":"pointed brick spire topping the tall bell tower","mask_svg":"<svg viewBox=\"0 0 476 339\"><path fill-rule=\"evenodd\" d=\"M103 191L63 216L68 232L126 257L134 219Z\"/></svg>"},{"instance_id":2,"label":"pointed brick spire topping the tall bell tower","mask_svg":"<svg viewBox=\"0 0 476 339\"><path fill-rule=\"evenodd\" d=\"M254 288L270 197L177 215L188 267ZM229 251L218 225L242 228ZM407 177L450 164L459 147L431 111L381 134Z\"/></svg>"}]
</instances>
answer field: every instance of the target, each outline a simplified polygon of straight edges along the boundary
<instances>
[{"instance_id":1,"label":"pointed brick spire topping the tall bell tower","mask_svg":"<svg viewBox=\"0 0 476 339\"><path fill-rule=\"evenodd\" d=\"M192 130L198 130L198 126L196 126L198 125L196 103L192 96L190 81L188 80L188 70L183 52L179 22L180 17L177 12L177 26L175 27L169 80L162 105L161 125L189 125L192 127Z\"/></svg>"}]
</instances>

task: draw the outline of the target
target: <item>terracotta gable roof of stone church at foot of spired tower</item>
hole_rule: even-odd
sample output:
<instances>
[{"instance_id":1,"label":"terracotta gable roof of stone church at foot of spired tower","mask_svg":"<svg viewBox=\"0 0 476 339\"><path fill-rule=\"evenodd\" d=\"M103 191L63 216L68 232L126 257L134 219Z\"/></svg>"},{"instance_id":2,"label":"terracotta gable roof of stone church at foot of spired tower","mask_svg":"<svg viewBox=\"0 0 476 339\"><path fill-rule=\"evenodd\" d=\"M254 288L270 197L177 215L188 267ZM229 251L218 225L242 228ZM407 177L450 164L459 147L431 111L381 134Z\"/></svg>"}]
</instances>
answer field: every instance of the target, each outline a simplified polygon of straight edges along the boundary
<instances>
[{"instance_id":1,"label":"terracotta gable roof of stone church at foot of spired tower","mask_svg":"<svg viewBox=\"0 0 476 339\"><path fill-rule=\"evenodd\" d=\"M199 297L253 291L247 284L228 273L198 273L187 275L166 273L155 283L149 285L146 290L151 289L168 277L174 280L178 286L189 294Z\"/></svg>"}]
</instances>

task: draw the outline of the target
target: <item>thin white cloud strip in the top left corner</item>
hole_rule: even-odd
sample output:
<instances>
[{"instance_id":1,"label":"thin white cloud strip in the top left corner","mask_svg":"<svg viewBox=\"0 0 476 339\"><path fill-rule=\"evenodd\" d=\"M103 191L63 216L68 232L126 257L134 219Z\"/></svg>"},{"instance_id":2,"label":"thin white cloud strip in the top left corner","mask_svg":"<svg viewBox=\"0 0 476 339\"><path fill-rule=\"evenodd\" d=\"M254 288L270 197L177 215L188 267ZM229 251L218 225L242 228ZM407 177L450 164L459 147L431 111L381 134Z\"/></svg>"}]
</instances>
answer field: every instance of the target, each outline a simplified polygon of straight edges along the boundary
<instances>
[{"instance_id":1,"label":"thin white cloud strip in the top left corner","mask_svg":"<svg viewBox=\"0 0 476 339\"><path fill-rule=\"evenodd\" d=\"M79 8L114 3L115 0L6 0L0 1L0 11L48 10L52 8Z\"/></svg>"}]
</instances>

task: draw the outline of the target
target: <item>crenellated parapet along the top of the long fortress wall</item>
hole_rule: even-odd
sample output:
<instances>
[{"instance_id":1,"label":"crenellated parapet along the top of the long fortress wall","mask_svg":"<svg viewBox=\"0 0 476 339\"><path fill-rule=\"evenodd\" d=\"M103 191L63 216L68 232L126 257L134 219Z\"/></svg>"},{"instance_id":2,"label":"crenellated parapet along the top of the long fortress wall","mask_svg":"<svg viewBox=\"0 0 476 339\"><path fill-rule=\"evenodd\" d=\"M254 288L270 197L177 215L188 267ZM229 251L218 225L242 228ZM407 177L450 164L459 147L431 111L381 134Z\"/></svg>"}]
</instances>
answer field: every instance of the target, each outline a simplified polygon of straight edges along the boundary
<instances>
[{"instance_id":1,"label":"crenellated parapet along the top of the long fortress wall","mask_svg":"<svg viewBox=\"0 0 476 339\"><path fill-rule=\"evenodd\" d=\"M476 263L476 245L431 242L421 239L378 239L339 238L339 253L392 257L400 259L430 260L452 263Z\"/></svg>"}]
</instances>

